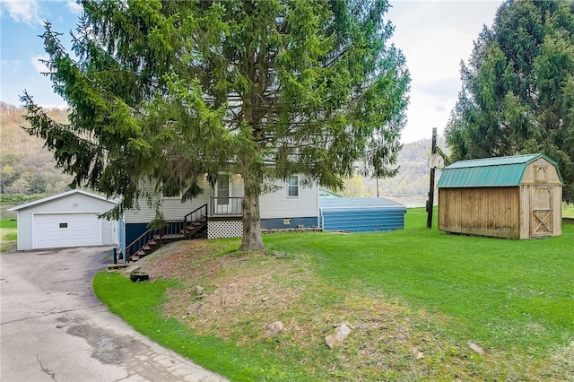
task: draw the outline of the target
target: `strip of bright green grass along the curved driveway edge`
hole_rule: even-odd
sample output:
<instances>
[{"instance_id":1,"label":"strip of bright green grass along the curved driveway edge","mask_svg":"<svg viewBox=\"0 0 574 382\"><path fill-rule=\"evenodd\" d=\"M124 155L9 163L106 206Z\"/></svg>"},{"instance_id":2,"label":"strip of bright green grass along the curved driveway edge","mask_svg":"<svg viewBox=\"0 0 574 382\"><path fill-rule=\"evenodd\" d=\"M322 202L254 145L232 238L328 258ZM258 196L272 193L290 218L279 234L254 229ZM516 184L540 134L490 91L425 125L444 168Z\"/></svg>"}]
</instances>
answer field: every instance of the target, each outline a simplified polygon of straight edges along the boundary
<instances>
[{"instance_id":1,"label":"strip of bright green grass along the curved driveway edge","mask_svg":"<svg viewBox=\"0 0 574 382\"><path fill-rule=\"evenodd\" d=\"M177 319L164 317L160 307L166 300L165 291L176 285L170 281L131 282L123 275L105 272L93 280L96 296L135 330L231 380L258 380L262 372L271 380L290 380L302 372L296 366L265 359L260 346L242 348L214 335L196 335Z\"/></svg>"}]
</instances>

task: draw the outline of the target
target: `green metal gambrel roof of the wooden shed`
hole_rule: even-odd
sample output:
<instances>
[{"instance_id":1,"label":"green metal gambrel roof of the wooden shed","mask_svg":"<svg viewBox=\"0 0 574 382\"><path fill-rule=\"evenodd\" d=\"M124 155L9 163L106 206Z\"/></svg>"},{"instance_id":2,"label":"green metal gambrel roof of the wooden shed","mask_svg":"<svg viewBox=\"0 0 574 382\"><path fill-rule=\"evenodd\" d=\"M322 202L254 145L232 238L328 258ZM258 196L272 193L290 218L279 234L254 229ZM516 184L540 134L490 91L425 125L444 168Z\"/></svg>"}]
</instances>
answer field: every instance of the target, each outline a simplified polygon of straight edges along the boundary
<instances>
[{"instance_id":1,"label":"green metal gambrel roof of the wooden shed","mask_svg":"<svg viewBox=\"0 0 574 382\"><path fill-rule=\"evenodd\" d=\"M517 187L520 185L526 165L541 157L556 166L563 183L555 161L544 154L528 154L457 161L442 170L438 187Z\"/></svg>"}]
</instances>

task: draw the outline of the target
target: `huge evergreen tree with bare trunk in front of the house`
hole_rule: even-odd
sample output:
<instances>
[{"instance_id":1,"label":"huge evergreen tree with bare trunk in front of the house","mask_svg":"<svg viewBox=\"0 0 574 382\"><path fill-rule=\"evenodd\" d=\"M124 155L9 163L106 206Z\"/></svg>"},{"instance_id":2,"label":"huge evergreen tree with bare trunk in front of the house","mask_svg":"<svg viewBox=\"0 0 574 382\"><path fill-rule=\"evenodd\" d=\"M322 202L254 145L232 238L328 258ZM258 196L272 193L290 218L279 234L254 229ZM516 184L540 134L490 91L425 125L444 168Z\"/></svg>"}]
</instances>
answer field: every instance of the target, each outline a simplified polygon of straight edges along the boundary
<instances>
[{"instance_id":1,"label":"huge evergreen tree with bare trunk in front of the house","mask_svg":"<svg viewBox=\"0 0 574 382\"><path fill-rule=\"evenodd\" d=\"M70 124L24 93L30 134L116 213L167 179L184 198L218 171L245 183L243 249L264 247L265 181L302 173L340 187L357 162L393 175L409 77L386 41L384 0L85 0L74 55L49 23L54 89ZM269 163L273 165L270 166ZM161 218L161 211L159 218Z\"/></svg>"}]
</instances>

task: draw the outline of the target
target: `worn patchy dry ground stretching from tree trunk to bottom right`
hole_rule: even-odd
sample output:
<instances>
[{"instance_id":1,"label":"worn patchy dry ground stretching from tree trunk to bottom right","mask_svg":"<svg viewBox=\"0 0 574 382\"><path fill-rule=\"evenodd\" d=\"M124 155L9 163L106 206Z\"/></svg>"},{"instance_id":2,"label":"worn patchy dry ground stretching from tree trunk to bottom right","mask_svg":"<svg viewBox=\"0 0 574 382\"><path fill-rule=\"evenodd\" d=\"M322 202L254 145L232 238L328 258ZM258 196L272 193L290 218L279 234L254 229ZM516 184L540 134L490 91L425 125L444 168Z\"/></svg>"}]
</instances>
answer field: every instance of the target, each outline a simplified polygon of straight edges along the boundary
<instances>
[{"instance_id":1,"label":"worn patchy dry ground stretching from tree trunk to bottom right","mask_svg":"<svg viewBox=\"0 0 574 382\"><path fill-rule=\"evenodd\" d=\"M180 282L168 291L164 311L196 334L257 347L318 379L523 380L545 372L563 377L572 369L571 344L548 362L492 349L474 338L455 340L444 330L454 325L449 317L415 311L361 285L328 282L317 276L310 256L244 254L238 247L231 241L172 243L146 257L141 270L152 280ZM276 321L283 329L265 338ZM326 335L342 323L352 333L327 349ZM529 330L540 333L544 327Z\"/></svg>"}]
</instances>

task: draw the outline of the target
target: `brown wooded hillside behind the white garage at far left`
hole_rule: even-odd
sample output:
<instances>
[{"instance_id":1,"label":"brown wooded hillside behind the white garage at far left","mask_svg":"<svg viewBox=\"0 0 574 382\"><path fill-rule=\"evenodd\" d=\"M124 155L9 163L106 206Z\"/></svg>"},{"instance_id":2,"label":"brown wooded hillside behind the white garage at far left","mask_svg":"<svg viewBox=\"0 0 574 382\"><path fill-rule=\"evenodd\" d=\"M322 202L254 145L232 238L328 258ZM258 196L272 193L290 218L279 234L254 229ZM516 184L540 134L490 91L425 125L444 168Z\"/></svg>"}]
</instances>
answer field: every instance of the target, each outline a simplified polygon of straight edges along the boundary
<instances>
[{"instance_id":1,"label":"brown wooded hillside behind the white garage at far left","mask_svg":"<svg viewBox=\"0 0 574 382\"><path fill-rule=\"evenodd\" d=\"M0 102L0 194L57 194L72 178L56 169L56 161L44 147L44 140L28 135L22 117L24 109ZM48 115L66 121L66 111L51 109Z\"/></svg>"}]
</instances>

